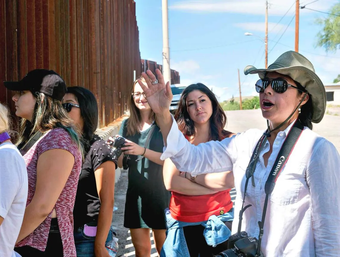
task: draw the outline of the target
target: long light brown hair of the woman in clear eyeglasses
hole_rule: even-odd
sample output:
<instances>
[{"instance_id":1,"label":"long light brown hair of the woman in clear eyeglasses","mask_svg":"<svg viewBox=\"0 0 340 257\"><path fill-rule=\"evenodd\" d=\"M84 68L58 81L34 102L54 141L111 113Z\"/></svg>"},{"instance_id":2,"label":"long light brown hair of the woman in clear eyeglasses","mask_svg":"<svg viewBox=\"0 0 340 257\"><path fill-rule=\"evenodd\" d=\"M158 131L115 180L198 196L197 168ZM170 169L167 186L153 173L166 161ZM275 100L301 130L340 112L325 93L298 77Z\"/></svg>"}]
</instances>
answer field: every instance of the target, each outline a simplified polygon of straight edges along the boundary
<instances>
[{"instance_id":1,"label":"long light brown hair of the woman in clear eyeglasses","mask_svg":"<svg viewBox=\"0 0 340 257\"><path fill-rule=\"evenodd\" d=\"M145 79L142 76L139 76L138 79L141 80L142 82L145 82ZM127 121L127 124L126 124L126 128L127 128L126 135L127 136L132 136L132 135L135 135L136 133L140 133L140 131L138 129L140 122L141 122L140 111L137 108L137 106L135 105L135 101L134 101L133 96L132 96L132 93L134 92L134 89L135 89L135 85L137 83L138 83L137 80L135 80L135 82L132 85L131 93L130 93L129 101L128 101L128 108L130 110L130 117L128 118L128 121ZM157 124L156 115L152 110L150 110L149 121L150 122L155 121L155 123Z\"/></svg>"}]
</instances>

